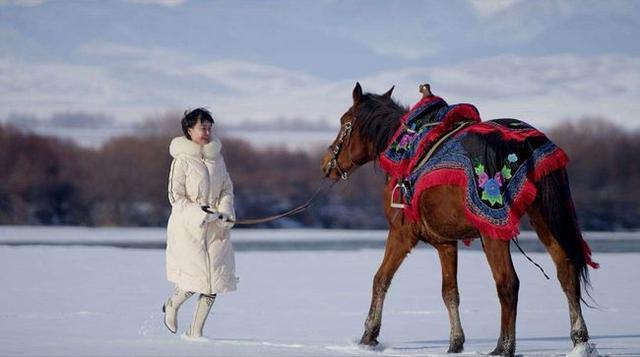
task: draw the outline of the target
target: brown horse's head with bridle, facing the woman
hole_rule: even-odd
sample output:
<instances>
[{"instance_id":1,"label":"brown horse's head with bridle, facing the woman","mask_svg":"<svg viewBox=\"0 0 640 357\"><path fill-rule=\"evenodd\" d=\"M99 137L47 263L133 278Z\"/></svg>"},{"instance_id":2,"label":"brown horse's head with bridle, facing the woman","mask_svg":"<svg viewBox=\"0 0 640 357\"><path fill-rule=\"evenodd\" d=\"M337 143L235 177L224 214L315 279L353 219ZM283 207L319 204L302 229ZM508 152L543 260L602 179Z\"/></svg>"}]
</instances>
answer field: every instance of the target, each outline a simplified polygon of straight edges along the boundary
<instances>
[{"instance_id":1,"label":"brown horse's head with bridle, facing the woman","mask_svg":"<svg viewBox=\"0 0 640 357\"><path fill-rule=\"evenodd\" d=\"M326 177L346 180L384 150L406 112L391 99L392 92L393 87L382 95L363 94L356 83L353 104L340 118L340 131L322 160Z\"/></svg>"}]
</instances>

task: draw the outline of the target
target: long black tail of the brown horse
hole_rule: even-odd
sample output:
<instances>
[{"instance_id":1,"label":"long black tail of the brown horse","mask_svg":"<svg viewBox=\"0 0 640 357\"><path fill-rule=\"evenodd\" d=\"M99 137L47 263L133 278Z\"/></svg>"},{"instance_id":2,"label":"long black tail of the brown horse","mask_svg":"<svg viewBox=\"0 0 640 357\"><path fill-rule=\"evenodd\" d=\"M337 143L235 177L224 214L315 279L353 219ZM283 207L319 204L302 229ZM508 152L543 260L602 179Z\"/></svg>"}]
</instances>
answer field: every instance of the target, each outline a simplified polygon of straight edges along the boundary
<instances>
[{"instance_id":1,"label":"long black tail of the brown horse","mask_svg":"<svg viewBox=\"0 0 640 357\"><path fill-rule=\"evenodd\" d=\"M591 248L582 238L578 226L567 170L560 168L550 172L537 182L537 186L542 216L551 234L579 272L580 285L591 297L588 267L598 268L598 264L591 260ZM580 299L585 302L582 297Z\"/></svg>"}]
</instances>

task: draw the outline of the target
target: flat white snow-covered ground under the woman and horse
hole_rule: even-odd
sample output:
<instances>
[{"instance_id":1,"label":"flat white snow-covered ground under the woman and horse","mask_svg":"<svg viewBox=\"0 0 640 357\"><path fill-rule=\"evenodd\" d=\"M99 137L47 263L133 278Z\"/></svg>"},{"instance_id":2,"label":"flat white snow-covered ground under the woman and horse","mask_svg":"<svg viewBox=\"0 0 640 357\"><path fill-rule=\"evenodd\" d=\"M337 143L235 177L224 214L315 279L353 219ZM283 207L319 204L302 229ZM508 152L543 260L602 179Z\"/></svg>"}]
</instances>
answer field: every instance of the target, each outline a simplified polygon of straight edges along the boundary
<instances>
[{"instance_id":1,"label":"flat white snow-covered ground under the woman and horse","mask_svg":"<svg viewBox=\"0 0 640 357\"><path fill-rule=\"evenodd\" d=\"M43 228L34 229L35 236ZM127 232L134 239L145 231ZM162 250L6 246L7 230L1 233L1 356L433 356L447 350L440 267L430 249L415 250L397 273L385 304L382 346L369 351L357 340L381 249L238 252L239 290L217 299L204 331L208 341L190 342L162 324L161 306L171 290ZM546 254L530 256L554 271ZM639 258L595 255L601 263L591 274L598 308L586 308L585 319L601 354L640 356ZM462 250L459 262L463 355L481 355L495 346L499 304L482 253ZM517 353L569 352L569 314L559 284L519 253L514 263L521 280ZM181 309L180 332L193 302Z\"/></svg>"}]
</instances>

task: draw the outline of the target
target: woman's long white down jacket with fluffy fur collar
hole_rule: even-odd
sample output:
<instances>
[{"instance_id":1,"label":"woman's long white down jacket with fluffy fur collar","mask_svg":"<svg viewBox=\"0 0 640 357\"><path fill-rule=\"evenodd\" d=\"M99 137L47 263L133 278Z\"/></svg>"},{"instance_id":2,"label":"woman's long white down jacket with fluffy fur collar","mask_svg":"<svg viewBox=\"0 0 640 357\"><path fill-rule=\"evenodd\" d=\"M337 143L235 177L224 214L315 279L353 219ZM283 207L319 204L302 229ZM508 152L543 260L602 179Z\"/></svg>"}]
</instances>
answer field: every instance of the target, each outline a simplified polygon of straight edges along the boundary
<instances>
[{"instance_id":1,"label":"woman's long white down jacket with fluffy fur collar","mask_svg":"<svg viewBox=\"0 0 640 357\"><path fill-rule=\"evenodd\" d=\"M171 215L167 225L167 279L182 290L216 294L236 290L229 230L205 223L201 206L235 217L233 184L220 141L198 145L184 136L169 146Z\"/></svg>"}]
</instances>

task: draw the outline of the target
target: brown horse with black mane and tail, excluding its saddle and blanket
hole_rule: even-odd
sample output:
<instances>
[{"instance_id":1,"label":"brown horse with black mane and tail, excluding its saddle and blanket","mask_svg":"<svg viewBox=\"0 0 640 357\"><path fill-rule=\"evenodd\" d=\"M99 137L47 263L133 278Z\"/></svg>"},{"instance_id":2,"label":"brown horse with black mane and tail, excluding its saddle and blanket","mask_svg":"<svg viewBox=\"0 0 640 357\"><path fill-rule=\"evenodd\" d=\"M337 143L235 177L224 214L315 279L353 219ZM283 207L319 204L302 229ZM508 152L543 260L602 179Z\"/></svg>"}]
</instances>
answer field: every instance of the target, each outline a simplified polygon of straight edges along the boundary
<instances>
[{"instance_id":1,"label":"brown horse with black mane and tail, excluding its saddle and blanket","mask_svg":"<svg viewBox=\"0 0 640 357\"><path fill-rule=\"evenodd\" d=\"M391 99L391 88L382 95L353 90L353 105L340 119L341 129L324 156L322 169L335 180L348 179L357 167L374 161L385 150L407 109ZM532 226L551 255L557 277L569 301L571 340L574 346L589 339L581 311L581 285L589 284L583 256L582 235L568 190L567 173L556 170L536 183L538 194L527 209ZM373 279L371 308L361 345L375 346L380 333L382 306L393 276L419 241L431 244L442 267L442 299L451 326L449 353L461 352L465 341L460 324L457 264L458 241L481 237L467 220L464 191L458 186L436 186L420 197L419 223L410 222L400 209L389 206L391 188L385 185L384 210L389 222L384 259ZM520 282L511 261L509 241L481 237L501 306L500 337L492 355L512 356L516 343L516 310Z\"/></svg>"}]
</instances>

